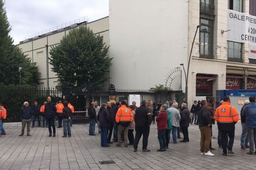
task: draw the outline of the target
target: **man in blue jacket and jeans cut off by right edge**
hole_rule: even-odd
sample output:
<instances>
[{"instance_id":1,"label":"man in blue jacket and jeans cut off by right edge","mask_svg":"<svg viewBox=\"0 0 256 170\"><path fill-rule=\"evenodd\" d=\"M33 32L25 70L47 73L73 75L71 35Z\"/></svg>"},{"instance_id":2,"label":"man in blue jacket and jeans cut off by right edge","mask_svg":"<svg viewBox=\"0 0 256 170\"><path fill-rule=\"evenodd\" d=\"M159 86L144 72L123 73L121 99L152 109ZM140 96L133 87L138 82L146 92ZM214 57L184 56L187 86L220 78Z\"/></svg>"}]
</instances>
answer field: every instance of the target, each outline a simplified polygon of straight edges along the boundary
<instances>
[{"instance_id":1,"label":"man in blue jacket and jeans cut off by right edge","mask_svg":"<svg viewBox=\"0 0 256 170\"><path fill-rule=\"evenodd\" d=\"M250 145L250 151L245 153L247 156L254 156L254 146L256 145L256 101L255 96L249 97L250 105L244 107L242 115L246 118L246 127Z\"/></svg>"}]
</instances>

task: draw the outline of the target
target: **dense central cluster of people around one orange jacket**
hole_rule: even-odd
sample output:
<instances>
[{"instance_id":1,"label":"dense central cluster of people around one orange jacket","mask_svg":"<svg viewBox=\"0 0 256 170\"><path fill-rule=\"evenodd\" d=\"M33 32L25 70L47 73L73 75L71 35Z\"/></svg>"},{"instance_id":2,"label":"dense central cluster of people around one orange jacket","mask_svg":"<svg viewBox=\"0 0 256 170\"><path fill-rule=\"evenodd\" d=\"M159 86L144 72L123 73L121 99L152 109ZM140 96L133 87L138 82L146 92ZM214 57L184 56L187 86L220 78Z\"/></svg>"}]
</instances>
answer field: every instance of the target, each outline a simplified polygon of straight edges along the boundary
<instances>
[{"instance_id":1,"label":"dense central cluster of people around one orange jacket","mask_svg":"<svg viewBox=\"0 0 256 170\"><path fill-rule=\"evenodd\" d=\"M177 144L177 138L180 138L180 130L183 133L183 140L180 142L189 142L188 127L190 123L190 113L185 102L178 107L176 101L169 101L162 105L152 101L142 101L140 107L136 102L127 105L127 101L107 102L101 107L98 102L92 102L88 109L90 126L89 135L95 136L95 125L99 122L99 133L101 135L101 146L109 147L113 142L116 146L125 147L133 145L134 152L137 152L138 143L143 136L143 152L149 152L148 136L151 123L157 122L158 140L160 149L157 151L166 151L169 148L171 133L173 143ZM134 130L136 131L134 136ZM111 136L113 133L113 139Z\"/></svg>"}]
</instances>

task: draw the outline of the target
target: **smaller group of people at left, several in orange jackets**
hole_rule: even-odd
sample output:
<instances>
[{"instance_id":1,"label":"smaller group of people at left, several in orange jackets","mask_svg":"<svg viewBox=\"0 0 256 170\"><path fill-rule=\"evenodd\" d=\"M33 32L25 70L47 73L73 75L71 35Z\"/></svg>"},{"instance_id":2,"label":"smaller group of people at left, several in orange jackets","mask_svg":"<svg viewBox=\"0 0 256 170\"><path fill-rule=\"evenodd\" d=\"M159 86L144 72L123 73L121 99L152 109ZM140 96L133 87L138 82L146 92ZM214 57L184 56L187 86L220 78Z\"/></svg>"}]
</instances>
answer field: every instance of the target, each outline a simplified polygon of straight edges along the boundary
<instances>
[{"instance_id":1,"label":"smaller group of people at left, several in orange jackets","mask_svg":"<svg viewBox=\"0 0 256 170\"><path fill-rule=\"evenodd\" d=\"M55 129L55 118L58 119L58 127L62 127L63 123L63 136L71 137L71 126L72 126L72 116L75 112L73 105L69 102L61 101L56 105L52 102L50 96L47 97L47 102L44 102L42 106L38 105L35 101L32 107L29 106L29 102L24 102L23 106L20 108L20 119L21 119L21 133L19 136L23 136L26 127L26 135L31 136L30 126L32 122L32 127L35 127L35 121L38 121L38 127L48 127L49 137L56 136ZM41 126L41 116L43 116L43 125ZM6 135L6 131L3 127L3 119L6 119L6 109L0 103L0 134ZM53 134L52 134L53 133Z\"/></svg>"}]
</instances>

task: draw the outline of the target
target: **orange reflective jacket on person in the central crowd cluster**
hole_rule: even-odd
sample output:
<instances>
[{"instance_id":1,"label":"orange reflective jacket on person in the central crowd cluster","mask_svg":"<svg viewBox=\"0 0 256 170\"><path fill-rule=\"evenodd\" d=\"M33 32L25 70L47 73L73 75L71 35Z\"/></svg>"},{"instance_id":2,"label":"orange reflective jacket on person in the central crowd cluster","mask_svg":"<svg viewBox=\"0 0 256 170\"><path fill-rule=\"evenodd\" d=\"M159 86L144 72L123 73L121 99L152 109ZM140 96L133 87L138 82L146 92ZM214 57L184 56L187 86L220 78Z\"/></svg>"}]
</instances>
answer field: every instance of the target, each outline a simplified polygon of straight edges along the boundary
<instances>
[{"instance_id":1,"label":"orange reflective jacket on person in the central crowd cluster","mask_svg":"<svg viewBox=\"0 0 256 170\"><path fill-rule=\"evenodd\" d=\"M119 122L132 122L133 116L131 110L126 107L126 105L122 105L117 113L116 113L116 123Z\"/></svg>"}]
</instances>

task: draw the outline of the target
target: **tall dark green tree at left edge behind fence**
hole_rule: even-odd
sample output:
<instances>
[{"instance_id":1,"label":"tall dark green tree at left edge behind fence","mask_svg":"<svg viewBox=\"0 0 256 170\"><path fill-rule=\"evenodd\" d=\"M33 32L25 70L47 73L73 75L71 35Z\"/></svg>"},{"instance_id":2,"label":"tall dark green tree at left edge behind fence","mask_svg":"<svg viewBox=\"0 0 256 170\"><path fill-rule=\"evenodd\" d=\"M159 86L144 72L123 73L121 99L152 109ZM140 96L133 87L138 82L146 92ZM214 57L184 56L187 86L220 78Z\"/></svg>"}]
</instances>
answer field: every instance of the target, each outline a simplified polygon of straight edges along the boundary
<instances>
[{"instance_id":1,"label":"tall dark green tree at left edge behind fence","mask_svg":"<svg viewBox=\"0 0 256 170\"><path fill-rule=\"evenodd\" d=\"M19 85L19 67L22 67L21 84L35 86L38 83L38 68L13 45L12 37L9 36L10 31L4 2L0 0L0 83Z\"/></svg>"}]
</instances>

